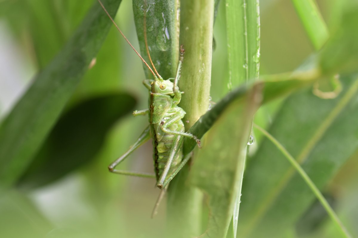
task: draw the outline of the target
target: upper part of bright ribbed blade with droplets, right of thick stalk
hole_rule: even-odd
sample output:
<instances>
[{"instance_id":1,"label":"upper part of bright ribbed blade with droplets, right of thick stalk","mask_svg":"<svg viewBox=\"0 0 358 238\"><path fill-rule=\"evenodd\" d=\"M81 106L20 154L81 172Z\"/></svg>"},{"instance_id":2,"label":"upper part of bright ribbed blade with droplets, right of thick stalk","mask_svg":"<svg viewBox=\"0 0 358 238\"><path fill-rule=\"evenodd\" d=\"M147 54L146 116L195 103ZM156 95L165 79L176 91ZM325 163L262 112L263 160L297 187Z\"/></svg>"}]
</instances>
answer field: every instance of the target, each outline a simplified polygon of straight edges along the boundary
<instances>
[{"instance_id":1,"label":"upper part of bright ribbed blade with droplets, right of thick stalk","mask_svg":"<svg viewBox=\"0 0 358 238\"><path fill-rule=\"evenodd\" d=\"M259 1L226 0L228 88L257 79L260 67Z\"/></svg>"}]
</instances>

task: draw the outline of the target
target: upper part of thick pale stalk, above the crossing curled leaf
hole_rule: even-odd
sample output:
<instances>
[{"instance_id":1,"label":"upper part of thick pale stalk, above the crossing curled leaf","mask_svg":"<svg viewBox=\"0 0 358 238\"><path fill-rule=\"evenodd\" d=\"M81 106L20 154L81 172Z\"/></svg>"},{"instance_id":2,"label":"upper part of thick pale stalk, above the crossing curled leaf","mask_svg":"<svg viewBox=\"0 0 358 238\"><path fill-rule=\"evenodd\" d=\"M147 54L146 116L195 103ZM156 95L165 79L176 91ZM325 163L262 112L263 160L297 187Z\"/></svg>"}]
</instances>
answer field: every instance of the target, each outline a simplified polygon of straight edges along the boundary
<instances>
[{"instance_id":1,"label":"upper part of thick pale stalk, above the crossing curled leaf","mask_svg":"<svg viewBox=\"0 0 358 238\"><path fill-rule=\"evenodd\" d=\"M185 130L205 114L209 107L213 45L214 3L183 0L180 6L180 45L185 54L179 81L184 91L179 106L187 114Z\"/></svg>"}]
</instances>

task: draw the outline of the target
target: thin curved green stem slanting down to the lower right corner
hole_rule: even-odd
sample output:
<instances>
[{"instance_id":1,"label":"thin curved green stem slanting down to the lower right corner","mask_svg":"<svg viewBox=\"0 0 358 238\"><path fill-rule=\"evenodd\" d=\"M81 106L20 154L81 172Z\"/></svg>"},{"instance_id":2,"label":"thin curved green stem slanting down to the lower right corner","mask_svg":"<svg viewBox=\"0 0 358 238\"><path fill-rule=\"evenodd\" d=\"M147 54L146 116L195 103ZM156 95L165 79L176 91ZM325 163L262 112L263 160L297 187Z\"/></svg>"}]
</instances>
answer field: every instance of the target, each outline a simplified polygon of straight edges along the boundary
<instances>
[{"instance_id":1,"label":"thin curved green stem slanting down to the lower right corner","mask_svg":"<svg viewBox=\"0 0 358 238\"><path fill-rule=\"evenodd\" d=\"M352 237L349 233L348 230L344 227L344 225L342 224L342 222L339 220L337 214L334 212L334 210L332 209L332 207L329 205L329 203L327 202L327 200L324 198L324 196L322 195L322 193L320 192L320 190L316 187L316 185L313 183L313 181L310 179L310 177L306 174L306 172L303 170L303 168L300 166L299 163L297 163L297 161L292 157L292 155L285 149L285 147L279 142L277 141L269 132L267 132L265 129L261 128L260 126L253 124L253 126L255 128L257 128L258 130L260 130L260 132L262 132L263 135L265 135L272 143L275 144L275 146L277 147L277 149L279 149L281 151L281 153L287 158L287 160L289 160L289 162L291 163L291 165L296 169L296 171L301 175L301 177L303 178L303 180L306 182L306 184L308 185L308 187L312 190L312 192L316 195L316 198L320 201L320 203L322 204L323 208L326 210L326 212L328 213L328 215L330 216L330 218L333 220L333 222L337 225L337 228L340 230L340 232L342 233L342 235L344 235L344 237L350 238Z\"/></svg>"}]
</instances>

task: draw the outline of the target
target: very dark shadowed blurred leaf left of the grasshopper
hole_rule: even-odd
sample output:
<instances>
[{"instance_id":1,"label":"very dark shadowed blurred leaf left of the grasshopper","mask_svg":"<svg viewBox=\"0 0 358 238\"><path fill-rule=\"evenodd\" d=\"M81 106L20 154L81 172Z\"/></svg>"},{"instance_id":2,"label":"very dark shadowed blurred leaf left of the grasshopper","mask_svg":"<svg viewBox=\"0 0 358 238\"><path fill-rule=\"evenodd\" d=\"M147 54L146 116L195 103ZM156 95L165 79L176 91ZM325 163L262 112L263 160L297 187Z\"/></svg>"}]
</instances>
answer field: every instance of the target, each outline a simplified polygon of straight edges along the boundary
<instances>
[{"instance_id":1,"label":"very dark shadowed blurred leaf left of the grasshopper","mask_svg":"<svg viewBox=\"0 0 358 238\"><path fill-rule=\"evenodd\" d=\"M113 123L133 110L134 105L130 95L112 93L71 108L58 120L18 184L45 185L90 163Z\"/></svg>"}]
</instances>

